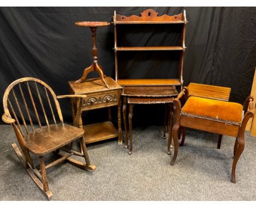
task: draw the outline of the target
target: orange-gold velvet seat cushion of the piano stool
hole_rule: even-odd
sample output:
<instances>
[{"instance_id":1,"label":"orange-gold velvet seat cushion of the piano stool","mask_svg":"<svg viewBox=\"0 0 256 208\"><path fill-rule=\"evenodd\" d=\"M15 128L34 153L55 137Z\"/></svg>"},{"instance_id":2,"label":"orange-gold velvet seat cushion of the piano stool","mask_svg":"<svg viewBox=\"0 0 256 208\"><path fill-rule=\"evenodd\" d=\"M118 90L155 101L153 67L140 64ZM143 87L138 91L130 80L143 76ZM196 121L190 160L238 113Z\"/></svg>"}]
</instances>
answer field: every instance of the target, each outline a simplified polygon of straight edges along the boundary
<instances>
[{"instance_id":1,"label":"orange-gold velvet seat cushion of the piano stool","mask_svg":"<svg viewBox=\"0 0 256 208\"><path fill-rule=\"evenodd\" d=\"M235 102L191 96L183 106L181 114L205 119L241 124L243 106Z\"/></svg>"}]
</instances>

